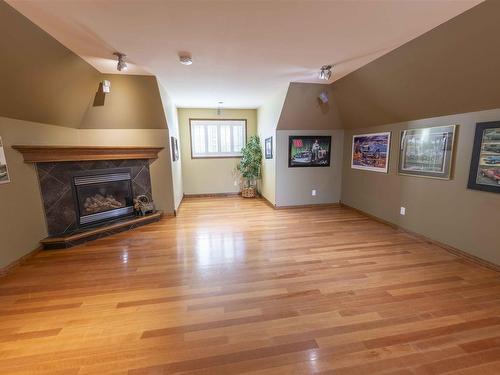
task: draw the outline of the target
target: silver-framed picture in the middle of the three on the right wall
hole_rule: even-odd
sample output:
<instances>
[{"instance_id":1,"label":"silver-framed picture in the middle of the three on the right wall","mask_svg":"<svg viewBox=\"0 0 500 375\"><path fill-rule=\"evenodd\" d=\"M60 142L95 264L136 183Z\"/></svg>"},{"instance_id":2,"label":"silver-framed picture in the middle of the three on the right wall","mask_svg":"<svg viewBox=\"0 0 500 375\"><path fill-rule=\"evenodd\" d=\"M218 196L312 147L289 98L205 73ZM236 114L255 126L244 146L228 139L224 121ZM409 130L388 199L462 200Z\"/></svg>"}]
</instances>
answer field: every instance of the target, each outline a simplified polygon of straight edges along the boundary
<instances>
[{"instance_id":1,"label":"silver-framed picture in the middle of the three on the right wall","mask_svg":"<svg viewBox=\"0 0 500 375\"><path fill-rule=\"evenodd\" d=\"M398 173L449 180L456 127L448 125L403 130Z\"/></svg>"}]
</instances>

